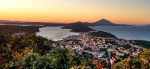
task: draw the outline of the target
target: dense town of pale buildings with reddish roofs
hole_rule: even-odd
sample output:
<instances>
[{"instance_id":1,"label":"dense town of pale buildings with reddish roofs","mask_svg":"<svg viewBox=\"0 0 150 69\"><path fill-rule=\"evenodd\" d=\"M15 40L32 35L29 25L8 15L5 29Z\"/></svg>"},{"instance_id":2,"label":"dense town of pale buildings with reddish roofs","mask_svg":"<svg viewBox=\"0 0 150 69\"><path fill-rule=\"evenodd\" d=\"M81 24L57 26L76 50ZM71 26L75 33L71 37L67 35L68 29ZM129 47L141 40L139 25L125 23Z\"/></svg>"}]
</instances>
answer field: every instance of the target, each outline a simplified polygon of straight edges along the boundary
<instances>
[{"instance_id":1,"label":"dense town of pale buildings with reddish roofs","mask_svg":"<svg viewBox=\"0 0 150 69\"><path fill-rule=\"evenodd\" d=\"M105 60L108 64L119 62L129 56L138 56L142 49L128 40L94 37L88 33L68 36L58 43L62 48L75 50L79 55L82 55L82 52L90 53L95 59Z\"/></svg>"}]
</instances>

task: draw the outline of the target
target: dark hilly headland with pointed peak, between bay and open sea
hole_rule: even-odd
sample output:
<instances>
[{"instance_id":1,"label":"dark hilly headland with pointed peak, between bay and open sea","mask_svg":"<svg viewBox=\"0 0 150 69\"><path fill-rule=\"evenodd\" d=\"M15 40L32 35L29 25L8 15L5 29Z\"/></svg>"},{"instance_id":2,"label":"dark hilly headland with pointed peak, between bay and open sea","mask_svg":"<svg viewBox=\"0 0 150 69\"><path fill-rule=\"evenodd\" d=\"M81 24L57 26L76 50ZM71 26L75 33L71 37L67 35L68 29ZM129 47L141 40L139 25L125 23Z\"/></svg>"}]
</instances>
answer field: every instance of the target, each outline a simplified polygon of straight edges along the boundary
<instances>
[{"instance_id":1,"label":"dark hilly headland with pointed peak, between bay and open sea","mask_svg":"<svg viewBox=\"0 0 150 69\"><path fill-rule=\"evenodd\" d=\"M108 21L106 19L99 20L94 23L88 23L88 22L74 22L66 24L63 29L71 29L72 32L89 32L89 31L95 31L89 26L129 26L124 24L115 24L111 21Z\"/></svg>"}]
</instances>

